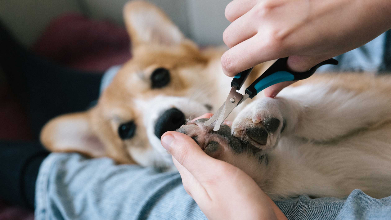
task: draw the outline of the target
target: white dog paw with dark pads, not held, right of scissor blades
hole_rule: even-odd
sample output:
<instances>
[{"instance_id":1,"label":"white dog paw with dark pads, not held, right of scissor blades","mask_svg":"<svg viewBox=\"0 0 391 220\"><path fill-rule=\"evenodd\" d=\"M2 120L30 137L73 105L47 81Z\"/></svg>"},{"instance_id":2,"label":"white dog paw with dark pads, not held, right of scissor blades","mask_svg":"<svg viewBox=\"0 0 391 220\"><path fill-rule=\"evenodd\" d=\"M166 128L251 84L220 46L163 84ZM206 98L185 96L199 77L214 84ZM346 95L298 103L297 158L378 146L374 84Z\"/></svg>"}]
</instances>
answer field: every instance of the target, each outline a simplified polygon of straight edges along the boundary
<instances>
[{"instance_id":1,"label":"white dog paw with dark pads, not held, right of scissor blades","mask_svg":"<svg viewBox=\"0 0 391 220\"><path fill-rule=\"evenodd\" d=\"M274 149L284 126L278 100L264 98L238 114L232 123L232 134L268 152Z\"/></svg>"}]
</instances>

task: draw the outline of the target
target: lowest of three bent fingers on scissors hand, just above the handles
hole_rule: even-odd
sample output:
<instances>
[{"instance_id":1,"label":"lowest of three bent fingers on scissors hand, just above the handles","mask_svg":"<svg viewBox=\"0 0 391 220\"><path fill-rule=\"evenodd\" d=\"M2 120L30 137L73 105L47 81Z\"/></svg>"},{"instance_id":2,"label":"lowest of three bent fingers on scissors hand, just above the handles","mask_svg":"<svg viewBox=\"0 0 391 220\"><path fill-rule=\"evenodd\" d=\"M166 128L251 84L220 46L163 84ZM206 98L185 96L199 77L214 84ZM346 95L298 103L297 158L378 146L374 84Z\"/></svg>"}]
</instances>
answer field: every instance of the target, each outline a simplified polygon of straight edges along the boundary
<instances>
[{"instance_id":1,"label":"lowest of three bent fingers on scissors hand, just above the handles","mask_svg":"<svg viewBox=\"0 0 391 220\"><path fill-rule=\"evenodd\" d=\"M262 41L256 34L227 50L221 57L221 65L224 73L232 77L260 63L287 56L282 47Z\"/></svg>"}]
</instances>

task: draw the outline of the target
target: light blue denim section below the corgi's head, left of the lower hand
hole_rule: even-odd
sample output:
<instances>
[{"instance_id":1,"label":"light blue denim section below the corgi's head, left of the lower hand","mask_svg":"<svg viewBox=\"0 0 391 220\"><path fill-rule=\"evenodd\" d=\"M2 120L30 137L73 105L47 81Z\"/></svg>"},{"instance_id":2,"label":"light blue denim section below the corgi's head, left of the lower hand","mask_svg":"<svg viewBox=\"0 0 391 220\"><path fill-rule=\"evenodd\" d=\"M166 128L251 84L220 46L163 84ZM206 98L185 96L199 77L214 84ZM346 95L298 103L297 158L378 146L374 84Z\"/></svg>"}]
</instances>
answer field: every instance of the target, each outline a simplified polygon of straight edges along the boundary
<instances>
[{"instance_id":1,"label":"light blue denim section below the corgi's head, left of the lower hand","mask_svg":"<svg viewBox=\"0 0 391 220\"><path fill-rule=\"evenodd\" d=\"M52 153L36 183L36 220L207 219L178 172Z\"/></svg>"}]
</instances>

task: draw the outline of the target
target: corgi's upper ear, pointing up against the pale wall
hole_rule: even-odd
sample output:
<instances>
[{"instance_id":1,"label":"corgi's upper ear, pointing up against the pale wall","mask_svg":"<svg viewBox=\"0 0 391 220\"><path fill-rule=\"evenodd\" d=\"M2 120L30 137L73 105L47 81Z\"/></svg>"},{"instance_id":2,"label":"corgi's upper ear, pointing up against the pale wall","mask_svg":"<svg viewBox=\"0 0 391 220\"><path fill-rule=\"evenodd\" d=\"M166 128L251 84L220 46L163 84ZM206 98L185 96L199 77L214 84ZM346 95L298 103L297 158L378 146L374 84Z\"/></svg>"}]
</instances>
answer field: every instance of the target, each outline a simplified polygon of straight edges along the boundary
<instances>
[{"instance_id":1,"label":"corgi's upper ear, pointing up against the pale wall","mask_svg":"<svg viewBox=\"0 0 391 220\"><path fill-rule=\"evenodd\" d=\"M124 6L124 19L133 47L142 43L171 46L185 39L169 17L148 2L128 2Z\"/></svg>"}]
</instances>

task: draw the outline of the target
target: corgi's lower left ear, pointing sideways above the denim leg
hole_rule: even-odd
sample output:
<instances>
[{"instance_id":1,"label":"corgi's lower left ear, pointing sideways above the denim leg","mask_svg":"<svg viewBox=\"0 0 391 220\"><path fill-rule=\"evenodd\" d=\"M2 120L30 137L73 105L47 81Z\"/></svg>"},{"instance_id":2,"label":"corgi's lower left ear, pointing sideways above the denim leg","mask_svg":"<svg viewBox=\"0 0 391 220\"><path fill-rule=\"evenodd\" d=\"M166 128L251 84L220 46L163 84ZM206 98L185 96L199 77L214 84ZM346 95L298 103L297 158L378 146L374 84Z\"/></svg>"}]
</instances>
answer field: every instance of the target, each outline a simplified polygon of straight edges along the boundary
<instances>
[{"instance_id":1,"label":"corgi's lower left ear, pointing sideways above the denim leg","mask_svg":"<svg viewBox=\"0 0 391 220\"><path fill-rule=\"evenodd\" d=\"M80 152L90 157L106 155L104 145L93 133L89 112L72 113L50 120L41 131L41 142L53 152Z\"/></svg>"}]
</instances>

